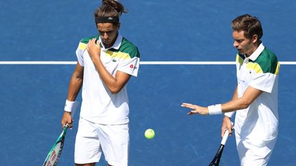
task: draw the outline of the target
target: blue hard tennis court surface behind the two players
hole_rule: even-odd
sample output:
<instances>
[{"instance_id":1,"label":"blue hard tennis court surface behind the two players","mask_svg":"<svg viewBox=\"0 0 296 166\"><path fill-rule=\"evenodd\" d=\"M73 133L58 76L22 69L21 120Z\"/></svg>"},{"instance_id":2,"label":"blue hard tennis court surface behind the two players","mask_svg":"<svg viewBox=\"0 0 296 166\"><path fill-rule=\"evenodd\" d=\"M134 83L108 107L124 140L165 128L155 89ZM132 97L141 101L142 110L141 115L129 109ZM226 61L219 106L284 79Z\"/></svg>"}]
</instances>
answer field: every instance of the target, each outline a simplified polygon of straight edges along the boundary
<instances>
[{"instance_id":1,"label":"blue hard tennis court surface behind the two players","mask_svg":"<svg viewBox=\"0 0 296 166\"><path fill-rule=\"evenodd\" d=\"M188 116L182 102L211 105L232 98L232 64L147 64L147 61L234 61L230 23L249 13L262 21L265 46L295 62L296 1L121 1L129 10L121 33L138 46L138 77L129 82L130 165L208 165L221 141L221 115ZM0 165L42 165L62 131L60 120L73 64L5 61L76 61L81 38L97 31L94 0L1 1ZM296 165L295 63L283 63L279 82L279 137L270 165ZM81 100L79 96L78 100ZM59 165L74 165L74 128ZM153 128L156 137L144 132ZM97 165L106 165L101 159ZM229 137L221 165L239 165Z\"/></svg>"}]
</instances>

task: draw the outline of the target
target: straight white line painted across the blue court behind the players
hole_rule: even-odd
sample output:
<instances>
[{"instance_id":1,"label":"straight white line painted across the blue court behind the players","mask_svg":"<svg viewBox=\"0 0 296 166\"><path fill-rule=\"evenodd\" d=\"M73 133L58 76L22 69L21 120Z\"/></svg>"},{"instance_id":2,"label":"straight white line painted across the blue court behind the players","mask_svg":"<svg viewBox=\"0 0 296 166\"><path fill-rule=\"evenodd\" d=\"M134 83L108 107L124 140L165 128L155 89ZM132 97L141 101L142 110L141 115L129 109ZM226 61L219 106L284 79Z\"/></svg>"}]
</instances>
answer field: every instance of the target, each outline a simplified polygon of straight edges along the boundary
<instances>
[{"instance_id":1,"label":"straight white line painted across the blue court behind the players","mask_svg":"<svg viewBox=\"0 0 296 166\"><path fill-rule=\"evenodd\" d=\"M77 61L0 61L5 65L42 65L42 64L76 64ZM235 61L140 61L141 65L230 65L235 64ZM281 65L295 65L296 61L280 61Z\"/></svg>"}]
</instances>

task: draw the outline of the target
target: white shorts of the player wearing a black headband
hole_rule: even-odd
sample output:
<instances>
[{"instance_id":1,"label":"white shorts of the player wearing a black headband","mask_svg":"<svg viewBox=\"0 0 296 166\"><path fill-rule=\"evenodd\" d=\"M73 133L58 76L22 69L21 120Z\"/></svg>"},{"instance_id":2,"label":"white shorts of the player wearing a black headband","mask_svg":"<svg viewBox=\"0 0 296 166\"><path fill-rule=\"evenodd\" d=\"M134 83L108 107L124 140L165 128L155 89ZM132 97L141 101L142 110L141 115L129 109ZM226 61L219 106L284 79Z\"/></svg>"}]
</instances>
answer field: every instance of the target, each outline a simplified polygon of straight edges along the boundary
<instances>
[{"instance_id":1,"label":"white shorts of the player wearing a black headband","mask_svg":"<svg viewBox=\"0 0 296 166\"><path fill-rule=\"evenodd\" d=\"M103 153L109 165L127 166L130 146L128 124L95 124L79 119L75 163L97 163Z\"/></svg>"}]
</instances>

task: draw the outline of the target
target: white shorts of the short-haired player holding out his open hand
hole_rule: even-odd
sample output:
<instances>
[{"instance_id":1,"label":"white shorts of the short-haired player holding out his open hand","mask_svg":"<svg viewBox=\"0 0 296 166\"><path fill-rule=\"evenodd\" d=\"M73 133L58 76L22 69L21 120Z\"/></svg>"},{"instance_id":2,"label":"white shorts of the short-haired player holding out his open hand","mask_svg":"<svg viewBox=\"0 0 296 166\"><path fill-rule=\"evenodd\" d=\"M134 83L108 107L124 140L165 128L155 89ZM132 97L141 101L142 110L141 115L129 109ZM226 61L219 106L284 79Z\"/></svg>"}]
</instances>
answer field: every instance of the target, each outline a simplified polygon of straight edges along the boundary
<instances>
[{"instance_id":1,"label":"white shorts of the short-haired player holding out his open hand","mask_svg":"<svg viewBox=\"0 0 296 166\"><path fill-rule=\"evenodd\" d=\"M245 139L242 141L238 133L235 133L235 135L241 166L267 165L273 152L276 138L271 140Z\"/></svg>"}]
</instances>

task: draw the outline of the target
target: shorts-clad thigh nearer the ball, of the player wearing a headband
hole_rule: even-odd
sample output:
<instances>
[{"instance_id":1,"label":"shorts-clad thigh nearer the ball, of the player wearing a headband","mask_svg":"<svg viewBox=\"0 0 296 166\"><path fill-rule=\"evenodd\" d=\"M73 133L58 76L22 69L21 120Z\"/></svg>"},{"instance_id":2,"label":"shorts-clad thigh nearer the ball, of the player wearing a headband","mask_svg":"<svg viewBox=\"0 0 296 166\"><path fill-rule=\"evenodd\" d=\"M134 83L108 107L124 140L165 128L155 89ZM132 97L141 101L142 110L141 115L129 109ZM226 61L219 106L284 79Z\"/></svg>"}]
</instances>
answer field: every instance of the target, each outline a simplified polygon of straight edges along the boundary
<instances>
[{"instance_id":1,"label":"shorts-clad thigh nearer the ball, of the player wearing a headband","mask_svg":"<svg viewBox=\"0 0 296 166\"><path fill-rule=\"evenodd\" d=\"M130 135L128 124L100 125L99 139L106 161L110 165L127 165Z\"/></svg>"}]
</instances>

